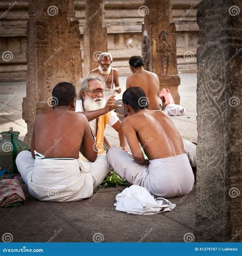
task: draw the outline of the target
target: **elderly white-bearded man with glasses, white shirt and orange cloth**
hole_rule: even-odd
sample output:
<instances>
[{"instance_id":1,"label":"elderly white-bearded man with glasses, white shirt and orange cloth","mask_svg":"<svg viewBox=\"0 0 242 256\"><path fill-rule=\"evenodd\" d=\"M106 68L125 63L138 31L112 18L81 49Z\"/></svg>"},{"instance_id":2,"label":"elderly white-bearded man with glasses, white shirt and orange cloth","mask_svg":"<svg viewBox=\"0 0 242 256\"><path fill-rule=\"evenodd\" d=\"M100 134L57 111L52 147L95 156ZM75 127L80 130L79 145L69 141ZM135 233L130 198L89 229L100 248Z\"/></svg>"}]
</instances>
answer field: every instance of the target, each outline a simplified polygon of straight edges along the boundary
<instances>
[{"instance_id":1,"label":"elderly white-bearded man with glasses, white shirt and orange cloth","mask_svg":"<svg viewBox=\"0 0 242 256\"><path fill-rule=\"evenodd\" d=\"M114 96L106 101L105 94L106 87L103 78L97 74L91 74L81 81L81 99L76 101L76 112L84 114L89 121L98 154L105 153L104 142L107 147L110 147L104 137L106 124L117 131L120 147L126 150L127 145L121 122L113 111L120 105L114 104L116 102Z\"/></svg>"}]
</instances>

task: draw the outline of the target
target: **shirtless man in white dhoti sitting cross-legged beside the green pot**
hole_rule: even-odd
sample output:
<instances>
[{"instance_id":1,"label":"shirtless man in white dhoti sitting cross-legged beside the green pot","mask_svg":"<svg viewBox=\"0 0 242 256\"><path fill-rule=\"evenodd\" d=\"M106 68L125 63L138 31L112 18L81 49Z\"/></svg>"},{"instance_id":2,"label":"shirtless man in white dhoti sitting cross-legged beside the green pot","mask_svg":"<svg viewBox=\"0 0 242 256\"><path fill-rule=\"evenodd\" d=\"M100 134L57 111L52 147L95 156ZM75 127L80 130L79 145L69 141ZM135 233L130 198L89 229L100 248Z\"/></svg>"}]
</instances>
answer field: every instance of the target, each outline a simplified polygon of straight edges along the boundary
<instances>
[{"instance_id":1,"label":"shirtless man in white dhoti sitting cross-legged beside the green pot","mask_svg":"<svg viewBox=\"0 0 242 256\"><path fill-rule=\"evenodd\" d=\"M87 118L75 112L76 96L71 83L55 86L57 104L36 117L31 152L22 151L16 158L30 194L41 201L89 198L108 173L106 154L97 157ZM79 152L89 161L81 160Z\"/></svg>"}]
</instances>

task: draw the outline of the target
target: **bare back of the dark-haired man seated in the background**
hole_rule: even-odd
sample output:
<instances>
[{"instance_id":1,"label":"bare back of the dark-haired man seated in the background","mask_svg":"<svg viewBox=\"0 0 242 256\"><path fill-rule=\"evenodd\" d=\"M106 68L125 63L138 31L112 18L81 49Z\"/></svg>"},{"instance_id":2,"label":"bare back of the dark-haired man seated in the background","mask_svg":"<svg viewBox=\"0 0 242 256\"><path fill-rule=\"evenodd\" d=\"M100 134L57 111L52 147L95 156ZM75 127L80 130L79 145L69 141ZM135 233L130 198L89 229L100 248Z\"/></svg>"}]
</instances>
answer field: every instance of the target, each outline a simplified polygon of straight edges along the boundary
<instances>
[{"instance_id":1,"label":"bare back of the dark-haired man seated in the background","mask_svg":"<svg viewBox=\"0 0 242 256\"><path fill-rule=\"evenodd\" d=\"M140 69L127 78L126 89L130 87L140 87L146 93L149 100L149 110L157 110L159 108L159 78L153 73Z\"/></svg>"}]
</instances>

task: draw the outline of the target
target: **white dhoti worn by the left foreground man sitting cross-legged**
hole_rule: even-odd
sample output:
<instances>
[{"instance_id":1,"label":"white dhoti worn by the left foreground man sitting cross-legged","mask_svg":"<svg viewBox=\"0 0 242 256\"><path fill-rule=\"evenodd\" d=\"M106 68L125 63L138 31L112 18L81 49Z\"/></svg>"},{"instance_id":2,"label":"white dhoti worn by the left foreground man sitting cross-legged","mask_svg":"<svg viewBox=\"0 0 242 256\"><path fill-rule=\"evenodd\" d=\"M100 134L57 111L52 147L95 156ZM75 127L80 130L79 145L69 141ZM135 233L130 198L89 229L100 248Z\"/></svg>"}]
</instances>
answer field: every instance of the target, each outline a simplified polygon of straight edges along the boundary
<instances>
[{"instance_id":1,"label":"white dhoti worn by the left foreground man sitting cross-legged","mask_svg":"<svg viewBox=\"0 0 242 256\"><path fill-rule=\"evenodd\" d=\"M68 202L89 198L93 188L103 181L109 171L106 154L95 162L75 158L44 158L35 151L22 151L16 165L30 194L41 201Z\"/></svg>"}]
</instances>

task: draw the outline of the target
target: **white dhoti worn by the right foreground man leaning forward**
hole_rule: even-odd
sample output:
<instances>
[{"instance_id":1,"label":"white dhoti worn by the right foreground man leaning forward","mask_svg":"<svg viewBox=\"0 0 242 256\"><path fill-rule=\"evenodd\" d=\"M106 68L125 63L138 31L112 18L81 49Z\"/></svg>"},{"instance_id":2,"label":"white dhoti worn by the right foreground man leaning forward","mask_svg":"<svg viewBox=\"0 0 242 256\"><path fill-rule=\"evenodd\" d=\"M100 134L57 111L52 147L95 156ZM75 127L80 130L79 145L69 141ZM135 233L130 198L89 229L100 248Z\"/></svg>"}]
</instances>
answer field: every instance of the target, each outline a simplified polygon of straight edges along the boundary
<instances>
[{"instance_id":1,"label":"white dhoti worn by the right foreground man leaning forward","mask_svg":"<svg viewBox=\"0 0 242 256\"><path fill-rule=\"evenodd\" d=\"M147 188L155 197L185 195L194 184L194 176L186 154L150 160L139 165L134 158L117 147L109 148L107 160L114 171L134 185Z\"/></svg>"}]
</instances>

